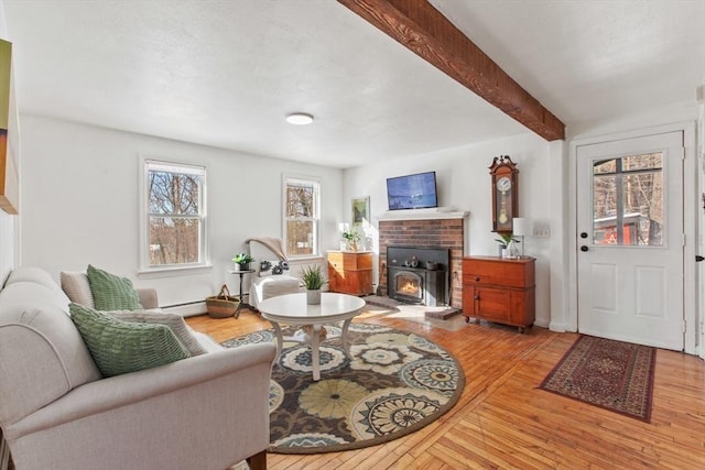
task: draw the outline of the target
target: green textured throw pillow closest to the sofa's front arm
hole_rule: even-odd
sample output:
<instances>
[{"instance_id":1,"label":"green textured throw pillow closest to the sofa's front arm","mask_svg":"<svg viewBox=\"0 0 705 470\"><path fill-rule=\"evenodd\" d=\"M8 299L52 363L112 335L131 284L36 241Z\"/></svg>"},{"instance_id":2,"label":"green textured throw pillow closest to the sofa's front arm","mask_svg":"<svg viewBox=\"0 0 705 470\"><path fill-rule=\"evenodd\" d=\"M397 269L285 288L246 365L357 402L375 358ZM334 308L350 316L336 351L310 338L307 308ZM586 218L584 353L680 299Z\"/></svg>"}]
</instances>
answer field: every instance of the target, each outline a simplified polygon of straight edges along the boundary
<instances>
[{"instance_id":1,"label":"green textured throw pillow closest to the sofa's front arm","mask_svg":"<svg viewBox=\"0 0 705 470\"><path fill-rule=\"evenodd\" d=\"M68 308L102 376L141 371L191 357L165 325L123 321L74 303Z\"/></svg>"}]
</instances>

